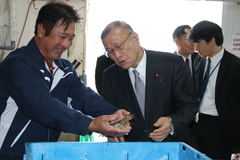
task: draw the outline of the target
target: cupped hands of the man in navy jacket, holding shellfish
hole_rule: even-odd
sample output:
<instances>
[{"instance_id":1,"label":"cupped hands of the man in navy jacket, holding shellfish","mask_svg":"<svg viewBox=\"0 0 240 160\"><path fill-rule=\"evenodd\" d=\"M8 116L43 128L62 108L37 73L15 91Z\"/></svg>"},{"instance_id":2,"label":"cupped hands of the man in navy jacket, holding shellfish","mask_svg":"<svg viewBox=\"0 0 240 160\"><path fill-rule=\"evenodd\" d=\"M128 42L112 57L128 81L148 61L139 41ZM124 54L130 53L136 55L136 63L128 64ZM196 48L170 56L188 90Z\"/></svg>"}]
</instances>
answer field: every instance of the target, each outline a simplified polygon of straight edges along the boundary
<instances>
[{"instance_id":1,"label":"cupped hands of the man in navy jacket, holding shellfish","mask_svg":"<svg viewBox=\"0 0 240 160\"><path fill-rule=\"evenodd\" d=\"M125 110L118 110L116 113L107 116L100 116L95 118L88 127L88 132L98 132L106 136L128 135L131 127L115 128L110 126L110 122L122 120L129 112Z\"/></svg>"}]
</instances>

